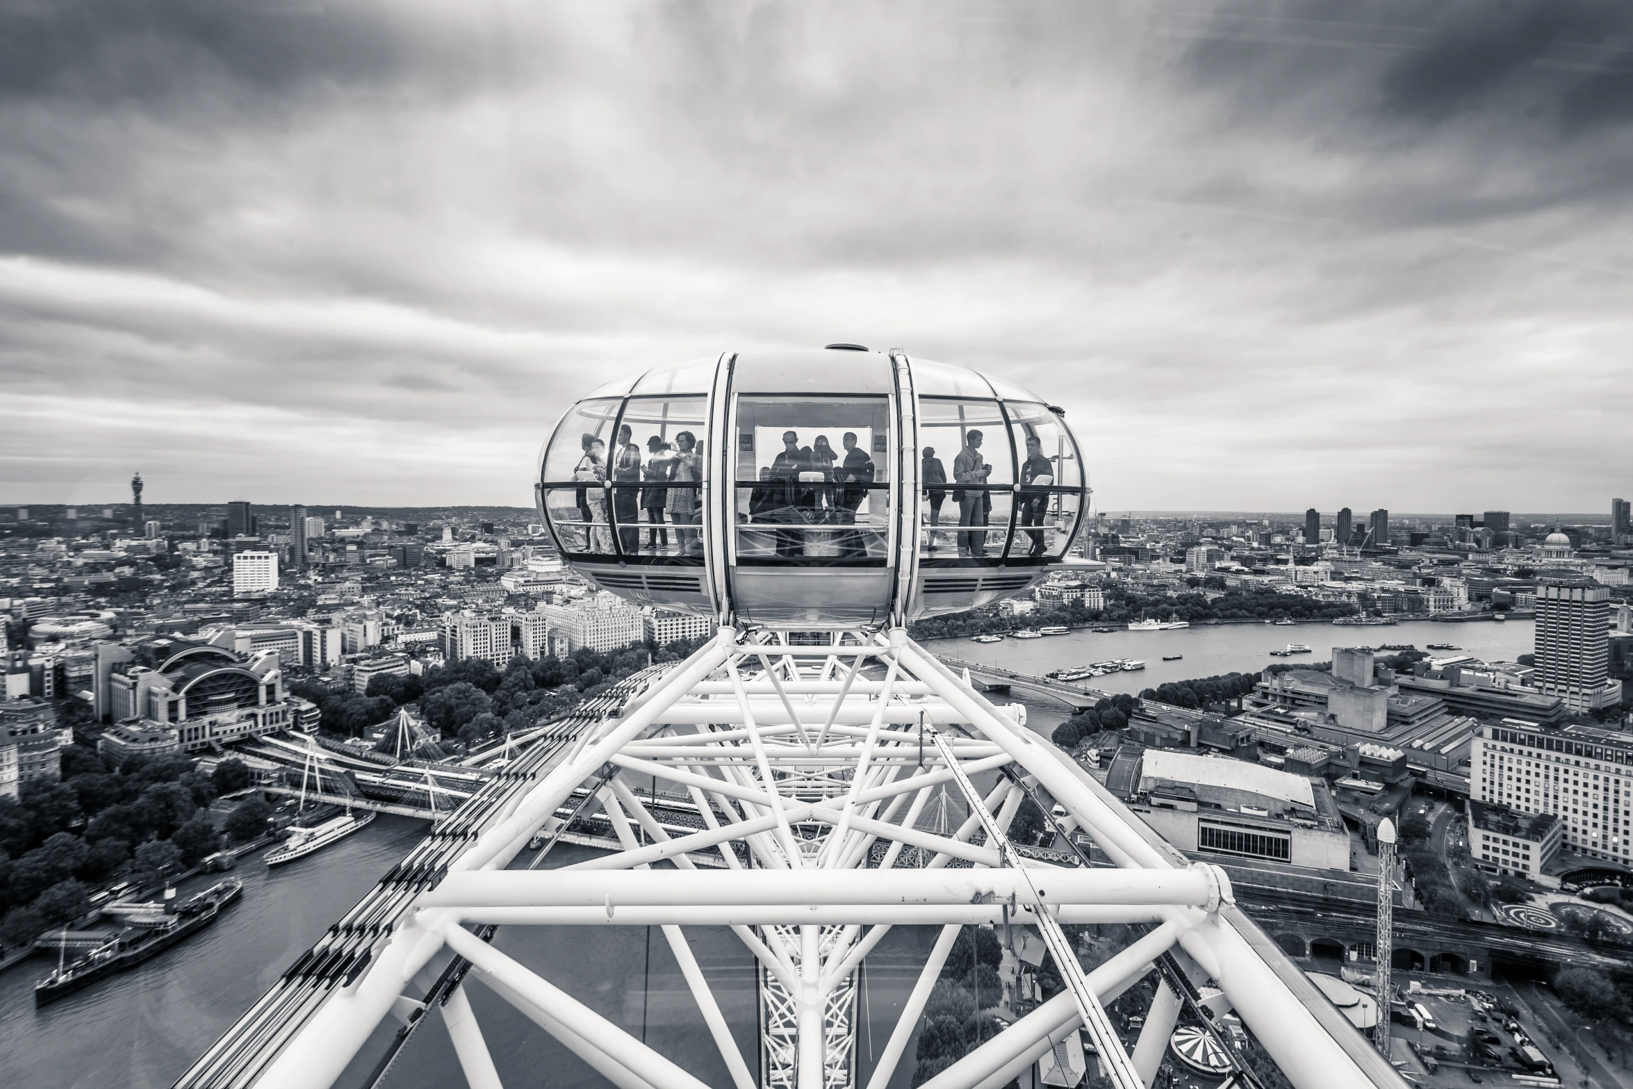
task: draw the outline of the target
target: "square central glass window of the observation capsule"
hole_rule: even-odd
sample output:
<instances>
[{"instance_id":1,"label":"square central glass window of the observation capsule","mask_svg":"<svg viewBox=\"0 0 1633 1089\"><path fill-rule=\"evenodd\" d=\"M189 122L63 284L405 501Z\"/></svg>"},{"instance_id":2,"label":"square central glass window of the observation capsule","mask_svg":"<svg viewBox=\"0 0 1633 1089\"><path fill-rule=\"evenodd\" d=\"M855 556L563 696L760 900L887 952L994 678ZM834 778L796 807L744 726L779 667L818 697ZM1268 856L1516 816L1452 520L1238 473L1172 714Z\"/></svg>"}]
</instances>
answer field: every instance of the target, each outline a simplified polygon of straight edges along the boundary
<instances>
[{"instance_id":1,"label":"square central glass window of the observation capsule","mask_svg":"<svg viewBox=\"0 0 1633 1089\"><path fill-rule=\"evenodd\" d=\"M885 565L888 398L743 395L735 442L738 563Z\"/></svg>"}]
</instances>

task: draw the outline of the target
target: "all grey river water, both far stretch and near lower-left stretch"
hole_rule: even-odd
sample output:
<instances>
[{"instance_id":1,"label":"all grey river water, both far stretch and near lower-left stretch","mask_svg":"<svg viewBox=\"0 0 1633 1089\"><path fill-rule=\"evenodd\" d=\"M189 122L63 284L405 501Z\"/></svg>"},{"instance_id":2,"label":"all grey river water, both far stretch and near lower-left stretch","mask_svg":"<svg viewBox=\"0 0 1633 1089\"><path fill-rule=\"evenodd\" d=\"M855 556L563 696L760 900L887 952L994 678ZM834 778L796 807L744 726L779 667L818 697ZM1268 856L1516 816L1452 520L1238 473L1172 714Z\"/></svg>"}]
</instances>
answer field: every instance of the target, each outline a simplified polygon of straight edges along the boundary
<instances>
[{"instance_id":1,"label":"all grey river water, both far stretch and near lower-left stretch","mask_svg":"<svg viewBox=\"0 0 1633 1089\"><path fill-rule=\"evenodd\" d=\"M1308 643L1313 653L1269 656L1270 650L1290 642ZM936 640L929 648L1034 674L1107 658L1140 658L1146 663L1143 671L1088 681L1112 692L1138 692L1164 681L1262 669L1272 661L1326 661L1333 647L1360 643L1414 643L1419 648L1455 643L1478 658L1512 661L1532 650L1532 620L1422 620L1359 629L1235 624L1169 632L1073 632L990 645ZM1163 655L1182 655L1182 660L1163 661ZM1034 712L1029 725L1043 733L1065 717L1057 704L1030 697L1027 702ZM330 922L407 854L425 829L425 821L380 816L364 831L274 872L268 872L260 857L247 857L235 870L245 878L243 900L214 926L147 965L44 1009L34 1009L33 988L51 970L49 958L36 957L10 968L0 975L0 1084L52 1089L170 1086ZM550 864L570 862L575 851L552 852ZM180 895L191 895L211 880L217 878L196 878ZM686 934L754 1073L753 963L730 931L696 927ZM867 960L857 1038L862 1084L911 989L914 965L923 963L932 940L929 927L900 927ZM496 945L632 1035L645 1037L704 1082L730 1084L661 931L652 931L648 940L645 927L506 927ZM470 998L505 1084L549 1081L558 1089L606 1084L483 986L472 985ZM892 1089L905 1089L913 1066L910 1048ZM394 1089L464 1084L439 1017L415 1035L385 1084Z\"/></svg>"}]
</instances>

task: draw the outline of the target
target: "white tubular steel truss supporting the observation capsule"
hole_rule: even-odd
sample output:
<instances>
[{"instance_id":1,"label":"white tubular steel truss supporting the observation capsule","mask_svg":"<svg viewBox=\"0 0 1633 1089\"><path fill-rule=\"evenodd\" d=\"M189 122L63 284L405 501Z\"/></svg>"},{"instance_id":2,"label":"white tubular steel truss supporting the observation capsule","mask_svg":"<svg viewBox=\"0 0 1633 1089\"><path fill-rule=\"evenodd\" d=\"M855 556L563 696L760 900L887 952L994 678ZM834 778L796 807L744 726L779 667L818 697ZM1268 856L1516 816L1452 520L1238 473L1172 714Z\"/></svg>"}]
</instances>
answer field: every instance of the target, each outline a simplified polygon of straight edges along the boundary
<instances>
[{"instance_id":1,"label":"white tubular steel truss supporting the observation capsule","mask_svg":"<svg viewBox=\"0 0 1633 1089\"><path fill-rule=\"evenodd\" d=\"M493 989L612 1084L699 1087L696 1074L485 940L495 926L658 926L733 1089L851 1089L856 971L893 926L910 924L942 931L867 1089L888 1084L968 924L1037 927L1066 989L941 1071L931 1089L1003 1086L1078 1029L1091 1033L1119 1089L1150 1089L1181 1007L1176 965L1221 993L1212 1006L1235 1007L1298 1089L1404 1084L1239 932L1221 870L1187 865L1019 718L900 629L823 645L722 629L519 793L256 1084L330 1086L387 1014L405 1002L425 1007L405 989L449 949L469 962L467 981ZM970 777L993 772L1001 774L983 797ZM1065 811L1061 829L1086 833L1114 865L1070 865L1011 846L1006 829L1027 793L1047 793ZM957 828L936 826L928 811L949 797L968 815ZM684 826L673 820L683 811ZM552 870L511 869L529 841L554 842L590 813L604 818L616 851ZM1083 971L1060 929L1071 922L1146 929ZM759 1078L727 1029L686 926L730 927L756 958ZM1168 967L1148 1019L1153 1038L1141 1035L1130 1056L1104 1004L1159 962ZM469 1084L498 1086L459 988L443 1011Z\"/></svg>"}]
</instances>

